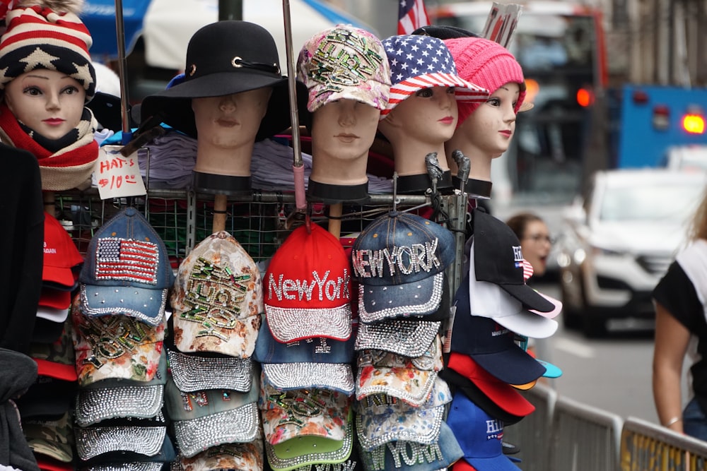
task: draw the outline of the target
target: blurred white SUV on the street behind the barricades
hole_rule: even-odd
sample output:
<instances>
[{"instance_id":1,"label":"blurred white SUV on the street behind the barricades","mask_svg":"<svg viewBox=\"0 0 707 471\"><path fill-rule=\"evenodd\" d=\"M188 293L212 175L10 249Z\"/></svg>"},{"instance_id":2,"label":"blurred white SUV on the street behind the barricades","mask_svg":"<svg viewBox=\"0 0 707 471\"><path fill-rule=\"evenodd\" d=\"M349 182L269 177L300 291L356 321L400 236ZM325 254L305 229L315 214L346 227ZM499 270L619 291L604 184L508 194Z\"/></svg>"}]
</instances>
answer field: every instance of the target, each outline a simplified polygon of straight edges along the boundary
<instances>
[{"instance_id":1,"label":"blurred white SUV on the street behind the barricades","mask_svg":"<svg viewBox=\"0 0 707 471\"><path fill-rule=\"evenodd\" d=\"M594 175L566 208L557 243L565 326L596 336L610 318L653 318L650 294L685 241L706 184L701 170Z\"/></svg>"}]
</instances>

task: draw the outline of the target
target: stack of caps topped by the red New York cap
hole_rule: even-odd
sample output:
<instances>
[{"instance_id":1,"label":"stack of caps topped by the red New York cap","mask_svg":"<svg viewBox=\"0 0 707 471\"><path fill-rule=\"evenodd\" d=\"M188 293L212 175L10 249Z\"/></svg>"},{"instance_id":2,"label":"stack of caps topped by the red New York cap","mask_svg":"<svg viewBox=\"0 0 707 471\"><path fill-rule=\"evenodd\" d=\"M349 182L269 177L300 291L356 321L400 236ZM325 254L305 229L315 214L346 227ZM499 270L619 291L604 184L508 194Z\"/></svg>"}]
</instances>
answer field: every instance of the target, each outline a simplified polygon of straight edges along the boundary
<instances>
[{"instance_id":1,"label":"stack of caps topped by the red New York cap","mask_svg":"<svg viewBox=\"0 0 707 471\"><path fill-rule=\"evenodd\" d=\"M272 257L264 290L256 356L268 463L276 471L346 463L354 448L349 258L322 227L300 226Z\"/></svg>"}]
</instances>

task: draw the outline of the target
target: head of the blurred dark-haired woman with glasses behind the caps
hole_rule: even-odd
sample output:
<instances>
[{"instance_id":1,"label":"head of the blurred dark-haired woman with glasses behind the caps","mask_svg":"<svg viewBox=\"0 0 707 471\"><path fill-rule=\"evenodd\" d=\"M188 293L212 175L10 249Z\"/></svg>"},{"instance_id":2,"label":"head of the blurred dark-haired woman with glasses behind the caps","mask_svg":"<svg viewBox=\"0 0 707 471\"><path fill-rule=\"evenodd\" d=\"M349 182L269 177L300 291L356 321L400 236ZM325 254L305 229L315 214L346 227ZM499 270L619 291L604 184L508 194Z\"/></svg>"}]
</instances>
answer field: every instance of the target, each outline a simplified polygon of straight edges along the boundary
<instances>
[{"instance_id":1,"label":"head of the blurred dark-haired woman with glasses behind the caps","mask_svg":"<svg viewBox=\"0 0 707 471\"><path fill-rule=\"evenodd\" d=\"M533 278L544 275L552 249L550 229L545 221L533 213L519 213L510 217L506 224L518 237L523 258L532 266Z\"/></svg>"}]
</instances>

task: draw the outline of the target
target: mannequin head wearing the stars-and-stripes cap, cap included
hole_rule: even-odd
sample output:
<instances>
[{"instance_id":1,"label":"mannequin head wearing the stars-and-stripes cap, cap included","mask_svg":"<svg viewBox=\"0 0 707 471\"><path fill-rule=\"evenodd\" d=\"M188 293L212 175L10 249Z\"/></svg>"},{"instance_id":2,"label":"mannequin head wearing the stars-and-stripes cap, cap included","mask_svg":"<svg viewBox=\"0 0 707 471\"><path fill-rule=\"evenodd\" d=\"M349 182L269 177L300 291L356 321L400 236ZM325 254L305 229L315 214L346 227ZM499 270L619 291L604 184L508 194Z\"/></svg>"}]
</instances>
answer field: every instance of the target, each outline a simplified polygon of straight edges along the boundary
<instances>
[{"instance_id":1,"label":"mannequin head wearing the stars-and-stripes cap, cap included","mask_svg":"<svg viewBox=\"0 0 707 471\"><path fill-rule=\"evenodd\" d=\"M448 174L444 143L457 124L457 101L485 100L486 90L457 76L449 50L436 37L392 36L383 45L390 61L392 86L378 129L392 145L395 172L399 177L424 176L425 156L437 153L440 167ZM399 181L399 188L403 182ZM429 187L423 186L417 190ZM416 190L408 191L404 184L402 189Z\"/></svg>"}]
</instances>

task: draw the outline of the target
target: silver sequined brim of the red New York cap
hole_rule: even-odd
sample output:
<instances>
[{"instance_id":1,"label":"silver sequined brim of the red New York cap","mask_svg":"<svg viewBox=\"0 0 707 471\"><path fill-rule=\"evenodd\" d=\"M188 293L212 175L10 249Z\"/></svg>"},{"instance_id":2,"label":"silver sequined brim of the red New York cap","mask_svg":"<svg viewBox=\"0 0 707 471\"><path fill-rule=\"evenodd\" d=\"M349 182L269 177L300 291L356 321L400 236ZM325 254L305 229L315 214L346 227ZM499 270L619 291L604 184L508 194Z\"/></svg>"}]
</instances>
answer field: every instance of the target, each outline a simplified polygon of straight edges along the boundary
<instances>
[{"instance_id":1,"label":"silver sequined brim of the red New York cap","mask_svg":"<svg viewBox=\"0 0 707 471\"><path fill-rule=\"evenodd\" d=\"M272 336L282 343L314 337L351 337L350 304L331 309L288 309L265 304L265 316Z\"/></svg>"}]
</instances>

